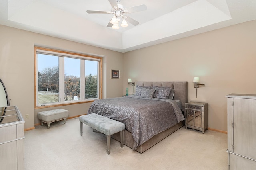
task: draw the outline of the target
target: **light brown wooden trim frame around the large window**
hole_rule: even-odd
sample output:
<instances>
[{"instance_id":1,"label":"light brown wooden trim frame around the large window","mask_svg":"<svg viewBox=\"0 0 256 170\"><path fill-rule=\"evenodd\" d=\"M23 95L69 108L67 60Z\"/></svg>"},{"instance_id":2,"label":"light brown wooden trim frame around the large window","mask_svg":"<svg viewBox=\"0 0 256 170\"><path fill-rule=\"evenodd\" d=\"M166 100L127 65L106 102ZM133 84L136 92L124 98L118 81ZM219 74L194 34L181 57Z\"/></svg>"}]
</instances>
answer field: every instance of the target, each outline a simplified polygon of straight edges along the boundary
<instances>
[{"instance_id":1,"label":"light brown wooden trim frame around the large window","mask_svg":"<svg viewBox=\"0 0 256 170\"><path fill-rule=\"evenodd\" d=\"M71 55L78 56L80 58L85 58L85 59L92 59L92 60L98 60L99 62L99 73L98 73L98 97L99 99L102 99L102 57L97 57L93 55L87 55L87 54L82 54L82 53L74 53L74 52L69 52L69 51L62 51L62 50L56 50L56 49L48 49L45 47L38 47L34 46L34 107L35 109L42 109L42 108L48 108L48 107L57 107L57 106L66 106L66 105L72 105L72 104L82 104L82 103L88 103L88 102L93 102L95 99L83 99L79 101L69 101L69 102L58 102L58 103L52 103L52 104L45 104L44 106L37 106L37 87L38 87L38 73L37 73L37 50L41 51L47 51L49 52L49 55L52 53L62 53L64 56L62 57L69 57ZM66 54L66 56L65 56ZM71 57L72 58L72 57ZM82 75L81 75L82 76ZM82 91L82 90L81 90Z\"/></svg>"}]
</instances>

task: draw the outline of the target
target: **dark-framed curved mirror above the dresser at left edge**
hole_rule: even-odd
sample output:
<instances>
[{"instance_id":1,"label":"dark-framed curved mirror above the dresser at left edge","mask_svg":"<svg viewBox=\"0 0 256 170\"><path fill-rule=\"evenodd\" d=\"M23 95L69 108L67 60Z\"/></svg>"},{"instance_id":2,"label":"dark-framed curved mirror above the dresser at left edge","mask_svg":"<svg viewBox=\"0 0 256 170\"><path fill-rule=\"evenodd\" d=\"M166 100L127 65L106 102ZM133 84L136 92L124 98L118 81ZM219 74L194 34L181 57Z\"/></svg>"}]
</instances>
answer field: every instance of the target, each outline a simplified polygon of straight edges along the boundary
<instances>
[{"instance_id":1,"label":"dark-framed curved mirror above the dresser at left edge","mask_svg":"<svg viewBox=\"0 0 256 170\"><path fill-rule=\"evenodd\" d=\"M6 113L6 106L10 106L8 95L6 88L4 86L3 81L0 79L0 124L2 123L4 119L4 115Z\"/></svg>"}]
</instances>

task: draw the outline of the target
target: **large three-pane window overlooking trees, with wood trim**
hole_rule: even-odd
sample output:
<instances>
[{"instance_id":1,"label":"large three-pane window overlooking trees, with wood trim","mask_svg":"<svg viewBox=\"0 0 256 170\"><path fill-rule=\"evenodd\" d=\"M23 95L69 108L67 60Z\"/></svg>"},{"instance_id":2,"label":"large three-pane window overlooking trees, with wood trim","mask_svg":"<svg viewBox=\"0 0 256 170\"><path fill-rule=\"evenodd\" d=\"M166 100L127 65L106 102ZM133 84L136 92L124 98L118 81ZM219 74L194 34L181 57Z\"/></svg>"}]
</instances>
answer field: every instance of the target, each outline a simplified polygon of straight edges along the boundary
<instances>
[{"instance_id":1,"label":"large three-pane window overlooking trees, with wood trim","mask_svg":"<svg viewBox=\"0 0 256 170\"><path fill-rule=\"evenodd\" d=\"M35 108L102 98L102 58L35 47Z\"/></svg>"}]
</instances>

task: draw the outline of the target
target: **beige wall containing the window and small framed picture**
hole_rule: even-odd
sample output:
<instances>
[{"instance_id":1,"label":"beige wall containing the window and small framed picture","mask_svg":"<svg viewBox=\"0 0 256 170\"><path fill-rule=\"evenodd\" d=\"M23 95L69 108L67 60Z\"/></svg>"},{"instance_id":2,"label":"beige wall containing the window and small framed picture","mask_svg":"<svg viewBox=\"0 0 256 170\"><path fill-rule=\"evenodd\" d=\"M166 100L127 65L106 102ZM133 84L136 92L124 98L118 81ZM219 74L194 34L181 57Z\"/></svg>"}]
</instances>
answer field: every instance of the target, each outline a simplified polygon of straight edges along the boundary
<instances>
[{"instance_id":1,"label":"beige wall containing the window and small framed picture","mask_svg":"<svg viewBox=\"0 0 256 170\"><path fill-rule=\"evenodd\" d=\"M17 105L25 119L25 129L39 123L37 113L46 109L34 109L34 45L65 49L68 51L105 56L103 59L104 98L122 95L123 54L90 45L75 43L38 33L0 25L0 78L3 80L11 105ZM119 69L120 80L111 79L111 69ZM85 114L91 103L62 106L70 117ZM50 109L55 109L52 107Z\"/></svg>"}]
</instances>

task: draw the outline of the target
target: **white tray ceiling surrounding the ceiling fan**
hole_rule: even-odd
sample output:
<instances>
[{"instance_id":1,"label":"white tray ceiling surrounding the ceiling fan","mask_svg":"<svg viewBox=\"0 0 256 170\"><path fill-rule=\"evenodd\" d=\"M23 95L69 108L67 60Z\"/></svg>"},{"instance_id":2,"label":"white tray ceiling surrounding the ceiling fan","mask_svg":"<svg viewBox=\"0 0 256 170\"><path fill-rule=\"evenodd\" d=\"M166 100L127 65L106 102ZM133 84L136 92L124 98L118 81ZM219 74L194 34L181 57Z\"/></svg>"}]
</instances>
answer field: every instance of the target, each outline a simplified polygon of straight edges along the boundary
<instances>
[{"instance_id":1,"label":"white tray ceiling surrounding the ceiling fan","mask_svg":"<svg viewBox=\"0 0 256 170\"><path fill-rule=\"evenodd\" d=\"M114 30L108 0L0 0L0 24L79 43L127 52L198 33L255 20L256 0L121 0L140 22Z\"/></svg>"}]
</instances>

